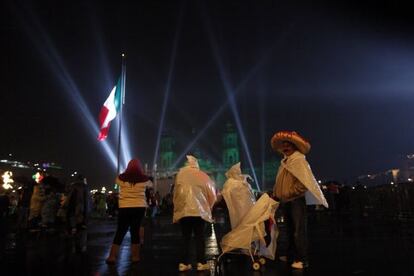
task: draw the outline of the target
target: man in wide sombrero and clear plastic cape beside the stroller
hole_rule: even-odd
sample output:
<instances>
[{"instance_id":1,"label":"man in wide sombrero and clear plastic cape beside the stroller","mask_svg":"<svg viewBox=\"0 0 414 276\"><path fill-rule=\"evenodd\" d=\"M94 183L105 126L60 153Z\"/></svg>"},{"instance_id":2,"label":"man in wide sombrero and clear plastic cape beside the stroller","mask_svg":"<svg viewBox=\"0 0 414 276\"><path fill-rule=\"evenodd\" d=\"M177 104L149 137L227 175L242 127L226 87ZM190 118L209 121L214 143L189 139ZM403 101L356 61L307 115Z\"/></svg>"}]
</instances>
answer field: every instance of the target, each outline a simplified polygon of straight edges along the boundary
<instances>
[{"instance_id":1,"label":"man in wide sombrero and clear plastic cape beside the stroller","mask_svg":"<svg viewBox=\"0 0 414 276\"><path fill-rule=\"evenodd\" d=\"M283 155L277 172L273 197L280 201L288 227L289 256L281 260L292 261L292 268L308 266L306 205L328 203L306 161L311 145L295 131L280 131L271 140L273 150Z\"/></svg>"}]
</instances>

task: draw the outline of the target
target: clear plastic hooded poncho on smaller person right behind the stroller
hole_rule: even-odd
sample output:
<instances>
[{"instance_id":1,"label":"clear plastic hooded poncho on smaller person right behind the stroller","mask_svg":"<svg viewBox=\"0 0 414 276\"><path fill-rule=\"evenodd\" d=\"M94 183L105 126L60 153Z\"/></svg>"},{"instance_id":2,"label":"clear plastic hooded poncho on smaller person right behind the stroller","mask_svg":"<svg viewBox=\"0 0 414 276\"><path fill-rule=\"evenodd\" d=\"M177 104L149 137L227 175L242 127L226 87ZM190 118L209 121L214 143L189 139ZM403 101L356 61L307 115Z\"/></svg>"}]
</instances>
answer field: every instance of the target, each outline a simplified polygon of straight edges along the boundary
<instances>
[{"instance_id":1,"label":"clear plastic hooded poncho on smaller person right behind the stroller","mask_svg":"<svg viewBox=\"0 0 414 276\"><path fill-rule=\"evenodd\" d=\"M226 172L226 177L227 181L221 193L229 211L231 228L234 229L256 203L256 198L247 182L249 175L241 173L240 162Z\"/></svg>"}]
</instances>

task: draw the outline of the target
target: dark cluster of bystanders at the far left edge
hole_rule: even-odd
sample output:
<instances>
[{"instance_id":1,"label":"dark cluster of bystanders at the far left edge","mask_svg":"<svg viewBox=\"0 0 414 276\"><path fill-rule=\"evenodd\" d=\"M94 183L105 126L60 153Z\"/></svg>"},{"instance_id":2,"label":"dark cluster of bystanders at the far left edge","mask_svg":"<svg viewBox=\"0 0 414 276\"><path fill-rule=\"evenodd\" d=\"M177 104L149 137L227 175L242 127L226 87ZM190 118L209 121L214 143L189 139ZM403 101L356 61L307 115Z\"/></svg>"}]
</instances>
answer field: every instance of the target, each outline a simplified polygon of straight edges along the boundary
<instances>
[{"instance_id":1,"label":"dark cluster of bystanders at the far left edge","mask_svg":"<svg viewBox=\"0 0 414 276\"><path fill-rule=\"evenodd\" d=\"M53 176L37 176L17 178L20 187L2 194L3 216L16 217L18 231L54 231L60 225L72 228L76 222L86 224L90 197L82 175L66 187Z\"/></svg>"}]
</instances>

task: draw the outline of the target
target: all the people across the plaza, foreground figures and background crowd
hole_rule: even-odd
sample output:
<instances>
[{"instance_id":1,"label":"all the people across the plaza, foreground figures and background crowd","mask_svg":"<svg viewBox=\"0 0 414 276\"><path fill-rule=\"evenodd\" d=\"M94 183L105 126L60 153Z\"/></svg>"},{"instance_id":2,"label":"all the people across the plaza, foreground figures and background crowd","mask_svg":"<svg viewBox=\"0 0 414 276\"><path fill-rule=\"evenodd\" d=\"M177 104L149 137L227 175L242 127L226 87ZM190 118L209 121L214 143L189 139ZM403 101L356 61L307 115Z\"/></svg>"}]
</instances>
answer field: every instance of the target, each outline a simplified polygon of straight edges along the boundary
<instances>
[{"instance_id":1,"label":"all the people across the plaza, foreground figures and background crowd","mask_svg":"<svg viewBox=\"0 0 414 276\"><path fill-rule=\"evenodd\" d=\"M223 252L242 249L250 252L256 246L262 256L279 258L294 269L309 265L307 256L307 205L316 205L319 210L329 210L329 214L349 214L350 210L359 216L368 216L369 206L378 204L389 211L393 200L399 202L400 211L413 211L412 188L402 185L378 187L368 195L366 187L355 187L328 183L325 189L316 181L306 154L310 144L293 131L277 132L271 146L283 156L273 191L255 194L250 186L248 175L241 172L240 163L233 165L226 173L227 181L221 193L217 193L214 181L200 169L197 159L187 156L185 165L175 177L173 189L161 198L154 190L153 179L147 176L138 159L132 159L115 182L117 193L91 194L86 178L76 174L71 183L62 186L52 176L38 177L36 180L20 179L22 188L18 194L3 194L0 197L0 217L15 216L20 232L53 232L62 229L68 235L83 233L90 217L117 218L117 229L113 238L107 264L117 262L119 248L127 231L131 234L131 261L140 261L140 245L143 239L143 219L154 219L160 214L171 214L173 223L181 227L182 256L179 271L192 269L190 241L194 236L196 245L196 269L210 269L205 259L204 228L213 223L215 208L225 207L231 229L221 239ZM402 192L398 192L402 190ZM323 206L323 207L321 207ZM395 207L395 206L394 206ZM314 208L315 210L315 208ZM287 226L288 245L278 250L276 233L278 216L283 215ZM253 224L252 224L253 223ZM253 228L249 229L251 225ZM246 232L247 231L247 232ZM246 235L246 233L250 233ZM247 238L248 237L248 238ZM83 242L86 245L85 242ZM79 250L85 251L86 247ZM247 251L246 251L247 250ZM250 253L251 254L251 253Z\"/></svg>"}]
</instances>

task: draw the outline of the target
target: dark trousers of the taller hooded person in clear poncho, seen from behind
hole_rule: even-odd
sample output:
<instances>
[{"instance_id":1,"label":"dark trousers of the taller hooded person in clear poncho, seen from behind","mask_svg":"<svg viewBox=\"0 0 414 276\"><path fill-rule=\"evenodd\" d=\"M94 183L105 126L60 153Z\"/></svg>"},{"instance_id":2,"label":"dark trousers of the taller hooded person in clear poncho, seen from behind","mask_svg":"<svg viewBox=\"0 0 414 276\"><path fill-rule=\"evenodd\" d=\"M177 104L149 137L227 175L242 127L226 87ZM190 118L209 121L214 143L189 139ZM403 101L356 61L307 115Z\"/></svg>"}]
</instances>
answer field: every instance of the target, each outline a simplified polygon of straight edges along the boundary
<instances>
[{"instance_id":1,"label":"dark trousers of the taller hooded person in clear poncho, seen from behind","mask_svg":"<svg viewBox=\"0 0 414 276\"><path fill-rule=\"evenodd\" d=\"M204 257L204 225L205 221L201 217L184 217L180 219L181 231L183 234L183 256L184 263L190 263L190 242L194 232L197 262L205 263Z\"/></svg>"}]
</instances>

